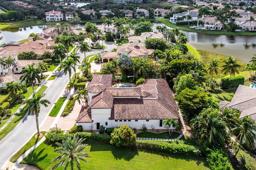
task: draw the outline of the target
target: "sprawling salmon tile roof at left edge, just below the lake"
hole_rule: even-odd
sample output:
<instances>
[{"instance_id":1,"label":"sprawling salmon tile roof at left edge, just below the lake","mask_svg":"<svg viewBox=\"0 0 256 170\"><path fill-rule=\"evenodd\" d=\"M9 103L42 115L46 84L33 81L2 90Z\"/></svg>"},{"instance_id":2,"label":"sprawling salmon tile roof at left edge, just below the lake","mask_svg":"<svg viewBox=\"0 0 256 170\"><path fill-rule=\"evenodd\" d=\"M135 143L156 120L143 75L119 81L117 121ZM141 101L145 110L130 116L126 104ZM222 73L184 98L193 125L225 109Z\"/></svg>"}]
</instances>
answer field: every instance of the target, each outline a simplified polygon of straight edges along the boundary
<instances>
[{"instance_id":1,"label":"sprawling salmon tile roof at left edge, just below the lake","mask_svg":"<svg viewBox=\"0 0 256 170\"><path fill-rule=\"evenodd\" d=\"M3 51L16 51L16 53L34 51L38 55L42 55L45 51L52 52L53 49L46 49L46 47L36 41L22 42L15 45L9 45L0 49Z\"/></svg>"}]
</instances>

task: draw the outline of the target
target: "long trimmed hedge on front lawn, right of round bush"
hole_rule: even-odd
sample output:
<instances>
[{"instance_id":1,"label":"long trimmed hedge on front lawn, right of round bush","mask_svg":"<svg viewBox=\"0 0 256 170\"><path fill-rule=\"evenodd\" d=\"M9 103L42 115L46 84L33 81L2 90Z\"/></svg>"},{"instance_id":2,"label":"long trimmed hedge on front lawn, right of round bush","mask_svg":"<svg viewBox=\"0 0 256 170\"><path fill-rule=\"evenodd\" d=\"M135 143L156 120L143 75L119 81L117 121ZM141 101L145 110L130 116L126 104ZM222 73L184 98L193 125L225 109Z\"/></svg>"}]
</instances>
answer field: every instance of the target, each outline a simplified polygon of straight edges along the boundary
<instances>
[{"instance_id":1,"label":"long trimmed hedge on front lawn, right of round bush","mask_svg":"<svg viewBox=\"0 0 256 170\"><path fill-rule=\"evenodd\" d=\"M164 150L171 153L191 154L194 156L202 155L202 151L199 147L187 144L156 142L155 140L136 140L136 146L141 148Z\"/></svg>"}]
</instances>

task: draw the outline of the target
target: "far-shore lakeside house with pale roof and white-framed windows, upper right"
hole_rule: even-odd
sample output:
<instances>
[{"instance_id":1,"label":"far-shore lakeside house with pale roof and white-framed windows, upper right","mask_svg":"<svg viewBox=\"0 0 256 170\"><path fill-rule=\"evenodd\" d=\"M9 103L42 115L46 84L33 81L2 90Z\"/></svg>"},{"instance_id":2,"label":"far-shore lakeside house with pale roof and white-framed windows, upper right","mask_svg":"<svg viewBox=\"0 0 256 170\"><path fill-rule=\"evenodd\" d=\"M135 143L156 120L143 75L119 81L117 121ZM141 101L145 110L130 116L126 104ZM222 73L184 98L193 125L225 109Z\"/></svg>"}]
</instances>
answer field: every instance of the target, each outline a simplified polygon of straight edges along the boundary
<instances>
[{"instance_id":1,"label":"far-shore lakeside house with pale roof and white-framed windows, upper right","mask_svg":"<svg viewBox=\"0 0 256 170\"><path fill-rule=\"evenodd\" d=\"M217 21L215 17L202 16L202 18L199 18L198 21L204 22L205 30L221 30L223 27L223 24L220 24L220 21ZM198 24L197 24L197 26L198 26Z\"/></svg>"}]
</instances>

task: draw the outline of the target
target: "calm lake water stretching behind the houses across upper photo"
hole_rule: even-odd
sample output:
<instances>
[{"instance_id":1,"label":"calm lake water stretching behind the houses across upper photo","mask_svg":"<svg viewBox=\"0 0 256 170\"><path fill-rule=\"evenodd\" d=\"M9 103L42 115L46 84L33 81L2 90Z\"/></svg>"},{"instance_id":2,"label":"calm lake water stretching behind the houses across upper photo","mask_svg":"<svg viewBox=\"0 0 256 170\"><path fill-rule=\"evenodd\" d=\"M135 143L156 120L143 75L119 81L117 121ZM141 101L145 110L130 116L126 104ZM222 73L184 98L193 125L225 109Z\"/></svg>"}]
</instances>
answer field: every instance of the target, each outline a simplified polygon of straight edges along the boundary
<instances>
[{"instance_id":1,"label":"calm lake water stretching behind the houses across upper photo","mask_svg":"<svg viewBox=\"0 0 256 170\"><path fill-rule=\"evenodd\" d=\"M101 25L102 23L95 24ZM164 24L154 22L152 28L155 28L157 25L163 26ZM30 33L40 33L43 32L44 29L53 26L54 25L49 24L20 29L1 30L0 36L3 36L3 39L0 40L0 44L26 39ZM78 24L78 28L84 29L84 24ZM248 63L252 54L256 53L255 36L221 36L195 32L185 32L185 34L188 39L188 44L196 49L218 53L226 57L232 55L244 63Z\"/></svg>"}]
</instances>

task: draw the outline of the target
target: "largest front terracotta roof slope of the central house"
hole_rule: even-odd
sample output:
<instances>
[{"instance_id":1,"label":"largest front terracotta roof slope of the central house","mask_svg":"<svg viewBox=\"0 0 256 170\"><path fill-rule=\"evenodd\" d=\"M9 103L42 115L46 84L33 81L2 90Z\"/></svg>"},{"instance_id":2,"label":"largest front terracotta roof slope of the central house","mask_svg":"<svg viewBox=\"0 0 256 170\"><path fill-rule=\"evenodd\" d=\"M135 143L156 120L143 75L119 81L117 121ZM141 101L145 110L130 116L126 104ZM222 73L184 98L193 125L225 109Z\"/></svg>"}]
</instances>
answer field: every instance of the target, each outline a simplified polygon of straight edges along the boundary
<instances>
[{"instance_id":1,"label":"largest front terracotta roof slope of the central house","mask_svg":"<svg viewBox=\"0 0 256 170\"><path fill-rule=\"evenodd\" d=\"M114 99L110 119L179 119L156 99Z\"/></svg>"}]
</instances>

